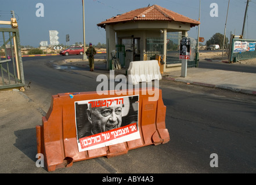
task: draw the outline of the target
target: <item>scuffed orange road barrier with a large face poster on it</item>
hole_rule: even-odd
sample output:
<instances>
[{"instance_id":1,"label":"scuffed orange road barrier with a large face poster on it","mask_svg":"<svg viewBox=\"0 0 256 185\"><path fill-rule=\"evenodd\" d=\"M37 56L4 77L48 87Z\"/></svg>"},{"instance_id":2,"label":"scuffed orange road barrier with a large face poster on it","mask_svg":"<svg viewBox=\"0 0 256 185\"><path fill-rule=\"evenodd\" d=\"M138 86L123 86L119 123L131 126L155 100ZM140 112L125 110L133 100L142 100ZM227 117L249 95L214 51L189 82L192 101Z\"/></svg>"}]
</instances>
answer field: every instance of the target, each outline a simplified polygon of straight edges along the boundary
<instances>
[{"instance_id":1,"label":"scuffed orange road barrier with a large face poster on it","mask_svg":"<svg viewBox=\"0 0 256 185\"><path fill-rule=\"evenodd\" d=\"M36 126L37 152L48 171L73 162L126 154L128 150L170 140L165 128L166 107L161 90L157 101L143 89L127 95L108 91L63 93L52 96L51 107ZM129 95L132 94L132 95Z\"/></svg>"}]
</instances>

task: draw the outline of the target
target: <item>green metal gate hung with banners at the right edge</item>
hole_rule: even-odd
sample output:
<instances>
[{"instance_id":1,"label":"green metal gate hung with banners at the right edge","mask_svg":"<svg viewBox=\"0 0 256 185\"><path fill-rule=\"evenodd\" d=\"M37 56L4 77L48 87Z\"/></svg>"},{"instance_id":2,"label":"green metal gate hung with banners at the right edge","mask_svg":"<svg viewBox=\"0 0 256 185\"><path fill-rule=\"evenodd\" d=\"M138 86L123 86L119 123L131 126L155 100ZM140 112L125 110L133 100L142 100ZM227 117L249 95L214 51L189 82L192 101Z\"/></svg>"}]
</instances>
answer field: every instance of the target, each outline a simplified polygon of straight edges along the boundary
<instances>
[{"instance_id":1,"label":"green metal gate hung with banners at the right edge","mask_svg":"<svg viewBox=\"0 0 256 185\"><path fill-rule=\"evenodd\" d=\"M230 61L256 58L255 39L232 39Z\"/></svg>"}]
</instances>

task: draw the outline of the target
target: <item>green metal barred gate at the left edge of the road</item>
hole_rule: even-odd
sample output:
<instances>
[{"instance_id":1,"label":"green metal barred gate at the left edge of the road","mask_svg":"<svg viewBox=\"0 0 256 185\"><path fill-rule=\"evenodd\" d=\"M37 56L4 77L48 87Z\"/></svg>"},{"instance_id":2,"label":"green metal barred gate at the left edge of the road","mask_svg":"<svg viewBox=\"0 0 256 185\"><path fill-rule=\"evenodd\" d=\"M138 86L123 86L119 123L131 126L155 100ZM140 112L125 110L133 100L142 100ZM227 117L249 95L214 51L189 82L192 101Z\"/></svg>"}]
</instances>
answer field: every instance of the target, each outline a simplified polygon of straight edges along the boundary
<instances>
[{"instance_id":1,"label":"green metal barred gate at the left edge of the road","mask_svg":"<svg viewBox=\"0 0 256 185\"><path fill-rule=\"evenodd\" d=\"M0 89L25 86L17 28L0 28Z\"/></svg>"}]
</instances>

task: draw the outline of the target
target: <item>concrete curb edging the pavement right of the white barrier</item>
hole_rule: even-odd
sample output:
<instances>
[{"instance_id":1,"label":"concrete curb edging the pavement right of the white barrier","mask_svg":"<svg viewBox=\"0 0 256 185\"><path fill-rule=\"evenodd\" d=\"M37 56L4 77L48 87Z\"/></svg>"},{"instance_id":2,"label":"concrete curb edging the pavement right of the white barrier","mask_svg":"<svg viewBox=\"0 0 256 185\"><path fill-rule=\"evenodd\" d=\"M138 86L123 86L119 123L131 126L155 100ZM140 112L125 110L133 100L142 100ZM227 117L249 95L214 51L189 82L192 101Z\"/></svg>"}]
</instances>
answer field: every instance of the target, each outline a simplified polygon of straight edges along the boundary
<instances>
[{"instance_id":1,"label":"concrete curb edging the pavement right of the white barrier","mask_svg":"<svg viewBox=\"0 0 256 185\"><path fill-rule=\"evenodd\" d=\"M220 89L223 89L223 90L229 90L229 91L233 91L233 92L241 92L243 94L256 95L256 91L253 91L253 90L233 88L233 87L228 87L228 86L220 86L220 85L201 83L201 82L193 82L191 80L175 79L174 77L168 77L168 76L164 76L164 77L162 77L162 79L163 80L170 80L170 81L174 81L174 82L182 82L182 83L186 83L186 84L193 84L193 85L196 85L196 86L220 88Z\"/></svg>"}]
</instances>

